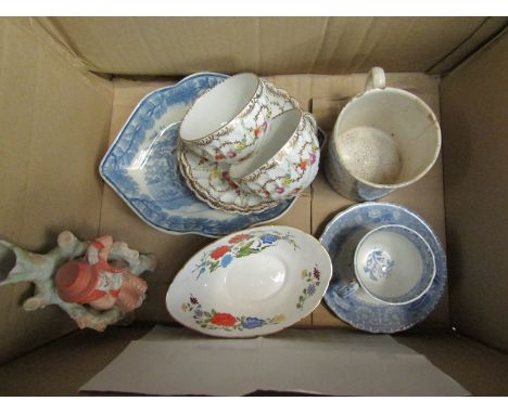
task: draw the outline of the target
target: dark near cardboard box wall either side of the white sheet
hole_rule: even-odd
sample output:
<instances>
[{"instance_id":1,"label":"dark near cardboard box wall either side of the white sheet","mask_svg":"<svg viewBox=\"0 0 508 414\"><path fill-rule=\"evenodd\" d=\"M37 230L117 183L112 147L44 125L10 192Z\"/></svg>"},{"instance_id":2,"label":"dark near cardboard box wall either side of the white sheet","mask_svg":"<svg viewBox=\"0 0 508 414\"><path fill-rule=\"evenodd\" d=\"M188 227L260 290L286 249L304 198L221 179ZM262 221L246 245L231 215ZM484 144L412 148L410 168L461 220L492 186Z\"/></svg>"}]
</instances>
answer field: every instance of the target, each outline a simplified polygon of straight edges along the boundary
<instances>
[{"instance_id":1,"label":"dark near cardboard box wall either side of the white sheet","mask_svg":"<svg viewBox=\"0 0 508 414\"><path fill-rule=\"evenodd\" d=\"M149 329L131 326L104 334L73 333L1 366L0 396L76 396L80 386ZM450 334L404 335L396 340L427 357L474 396L508 393L506 354Z\"/></svg>"}]
</instances>

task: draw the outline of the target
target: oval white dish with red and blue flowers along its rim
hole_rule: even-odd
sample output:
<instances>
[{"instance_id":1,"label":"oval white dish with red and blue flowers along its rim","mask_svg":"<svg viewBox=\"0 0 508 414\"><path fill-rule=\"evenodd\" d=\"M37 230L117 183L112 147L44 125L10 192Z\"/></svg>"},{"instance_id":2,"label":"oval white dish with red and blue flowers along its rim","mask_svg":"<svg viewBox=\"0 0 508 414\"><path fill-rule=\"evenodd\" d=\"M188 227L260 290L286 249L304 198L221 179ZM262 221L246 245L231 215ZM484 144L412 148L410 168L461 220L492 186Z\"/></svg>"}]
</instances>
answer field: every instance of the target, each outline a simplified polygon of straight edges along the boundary
<instances>
[{"instance_id":1,"label":"oval white dish with red and blue flowers along its rim","mask_svg":"<svg viewBox=\"0 0 508 414\"><path fill-rule=\"evenodd\" d=\"M166 307L206 335L267 335L308 315L331 273L328 253L309 234L289 227L249 229L195 254L169 286Z\"/></svg>"}]
</instances>

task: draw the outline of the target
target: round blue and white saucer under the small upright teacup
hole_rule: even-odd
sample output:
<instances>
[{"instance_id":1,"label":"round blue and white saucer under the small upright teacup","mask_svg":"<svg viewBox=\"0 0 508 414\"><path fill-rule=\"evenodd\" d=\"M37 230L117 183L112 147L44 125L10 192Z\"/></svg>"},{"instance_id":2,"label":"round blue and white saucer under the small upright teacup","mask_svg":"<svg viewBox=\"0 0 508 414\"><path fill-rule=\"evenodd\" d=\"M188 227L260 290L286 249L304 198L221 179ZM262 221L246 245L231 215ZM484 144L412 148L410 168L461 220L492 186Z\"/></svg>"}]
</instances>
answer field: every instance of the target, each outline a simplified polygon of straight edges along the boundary
<instances>
[{"instance_id":1,"label":"round blue and white saucer under the small upright teacup","mask_svg":"<svg viewBox=\"0 0 508 414\"><path fill-rule=\"evenodd\" d=\"M407 305L386 305L370 297L354 271L356 245L367 231L384 224L405 225L429 244L435 258L435 276L427 293ZM446 255L432 229L407 208L389 203L361 203L338 214L320 240L333 262L325 295L329 308L350 325L370 333L392 334L423 321L437 306L446 285Z\"/></svg>"}]
</instances>

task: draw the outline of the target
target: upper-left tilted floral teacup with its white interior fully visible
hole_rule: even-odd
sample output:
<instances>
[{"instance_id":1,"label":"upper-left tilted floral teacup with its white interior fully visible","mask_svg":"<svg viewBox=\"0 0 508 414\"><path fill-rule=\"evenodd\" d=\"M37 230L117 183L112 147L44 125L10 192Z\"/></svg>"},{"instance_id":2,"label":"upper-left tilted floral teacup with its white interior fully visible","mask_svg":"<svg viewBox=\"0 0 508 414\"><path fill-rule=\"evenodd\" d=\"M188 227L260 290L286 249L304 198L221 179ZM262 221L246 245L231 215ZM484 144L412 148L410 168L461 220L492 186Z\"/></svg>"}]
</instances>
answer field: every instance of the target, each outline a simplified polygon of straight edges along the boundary
<instances>
[{"instance_id":1,"label":"upper-left tilted floral teacup with its white interior fully visible","mask_svg":"<svg viewBox=\"0 0 508 414\"><path fill-rule=\"evenodd\" d=\"M234 164L245 159L268 129L269 92L254 74L227 78L187 112L179 131L182 143L208 160Z\"/></svg>"}]
</instances>

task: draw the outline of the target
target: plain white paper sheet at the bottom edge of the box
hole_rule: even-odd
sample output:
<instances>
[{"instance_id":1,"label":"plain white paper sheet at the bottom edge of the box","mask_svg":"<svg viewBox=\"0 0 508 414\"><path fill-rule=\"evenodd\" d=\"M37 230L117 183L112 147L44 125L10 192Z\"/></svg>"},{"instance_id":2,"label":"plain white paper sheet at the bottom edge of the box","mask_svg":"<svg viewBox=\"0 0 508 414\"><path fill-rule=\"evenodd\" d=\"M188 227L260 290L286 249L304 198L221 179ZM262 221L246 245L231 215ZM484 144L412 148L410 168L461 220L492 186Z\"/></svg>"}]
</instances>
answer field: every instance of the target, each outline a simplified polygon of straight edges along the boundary
<instances>
[{"instance_id":1,"label":"plain white paper sheet at the bottom edge of the box","mask_svg":"<svg viewBox=\"0 0 508 414\"><path fill-rule=\"evenodd\" d=\"M468 396L448 375L388 335L285 329L216 339L155 326L82 391L242 396L256 390L331 396Z\"/></svg>"}]
</instances>

